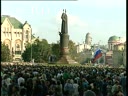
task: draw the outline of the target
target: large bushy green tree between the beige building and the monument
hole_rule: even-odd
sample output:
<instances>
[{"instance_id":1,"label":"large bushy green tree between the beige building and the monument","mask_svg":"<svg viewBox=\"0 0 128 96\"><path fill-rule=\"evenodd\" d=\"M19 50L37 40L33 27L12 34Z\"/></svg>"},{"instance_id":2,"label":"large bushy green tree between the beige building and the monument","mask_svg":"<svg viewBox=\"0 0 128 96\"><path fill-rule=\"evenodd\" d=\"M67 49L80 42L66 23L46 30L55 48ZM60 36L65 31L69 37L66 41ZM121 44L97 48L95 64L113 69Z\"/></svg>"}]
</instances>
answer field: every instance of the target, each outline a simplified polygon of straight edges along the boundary
<instances>
[{"instance_id":1,"label":"large bushy green tree between the beige building and the monument","mask_svg":"<svg viewBox=\"0 0 128 96\"><path fill-rule=\"evenodd\" d=\"M51 54L51 49L47 40L45 39L39 40L39 38L37 38L32 43L32 45L30 43L27 44L26 50L22 54L22 57L25 62L30 62L31 59L34 59L35 62L41 63L48 61L48 56L50 54Z\"/></svg>"}]
</instances>

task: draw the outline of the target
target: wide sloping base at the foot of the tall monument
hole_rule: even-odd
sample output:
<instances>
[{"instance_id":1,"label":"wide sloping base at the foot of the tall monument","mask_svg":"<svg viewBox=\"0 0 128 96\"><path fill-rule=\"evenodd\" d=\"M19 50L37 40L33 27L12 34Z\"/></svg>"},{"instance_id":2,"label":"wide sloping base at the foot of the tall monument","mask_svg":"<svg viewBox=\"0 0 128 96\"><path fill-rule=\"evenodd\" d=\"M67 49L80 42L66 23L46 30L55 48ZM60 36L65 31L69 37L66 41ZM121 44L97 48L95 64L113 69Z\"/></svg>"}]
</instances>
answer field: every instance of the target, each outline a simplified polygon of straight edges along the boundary
<instances>
[{"instance_id":1,"label":"wide sloping base at the foot of the tall monument","mask_svg":"<svg viewBox=\"0 0 128 96\"><path fill-rule=\"evenodd\" d=\"M69 55L63 55L57 64L78 64L78 62L73 60Z\"/></svg>"}]
</instances>

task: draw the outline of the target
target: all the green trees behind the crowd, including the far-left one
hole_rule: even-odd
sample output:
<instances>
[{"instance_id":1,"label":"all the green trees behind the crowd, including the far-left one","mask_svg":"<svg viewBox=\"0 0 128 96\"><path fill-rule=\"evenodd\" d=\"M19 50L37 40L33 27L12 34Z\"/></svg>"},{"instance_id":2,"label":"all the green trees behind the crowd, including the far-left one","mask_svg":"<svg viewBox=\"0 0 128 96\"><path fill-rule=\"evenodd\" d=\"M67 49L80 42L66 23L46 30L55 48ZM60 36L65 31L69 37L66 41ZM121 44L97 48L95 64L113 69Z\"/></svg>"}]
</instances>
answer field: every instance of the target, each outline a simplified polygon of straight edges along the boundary
<instances>
[{"instance_id":1,"label":"all the green trees behind the crowd, including the far-left one","mask_svg":"<svg viewBox=\"0 0 128 96\"><path fill-rule=\"evenodd\" d=\"M2 45L1 50L1 61L12 61L11 52L8 48L8 46ZM69 40L69 55L72 57L72 59L75 59L79 63L88 63L91 58L85 58L86 55L83 56L81 53L77 53L77 48L75 46L75 43L72 40ZM28 43L26 45L26 50L22 53L22 59L24 62L30 62L32 59L34 59L37 63L43 63L49 61L49 56L54 55L56 57L56 60L60 58L60 42L49 44L46 39L40 40L39 38L36 38L34 42ZM100 60L100 62L103 62L103 59Z\"/></svg>"}]
</instances>

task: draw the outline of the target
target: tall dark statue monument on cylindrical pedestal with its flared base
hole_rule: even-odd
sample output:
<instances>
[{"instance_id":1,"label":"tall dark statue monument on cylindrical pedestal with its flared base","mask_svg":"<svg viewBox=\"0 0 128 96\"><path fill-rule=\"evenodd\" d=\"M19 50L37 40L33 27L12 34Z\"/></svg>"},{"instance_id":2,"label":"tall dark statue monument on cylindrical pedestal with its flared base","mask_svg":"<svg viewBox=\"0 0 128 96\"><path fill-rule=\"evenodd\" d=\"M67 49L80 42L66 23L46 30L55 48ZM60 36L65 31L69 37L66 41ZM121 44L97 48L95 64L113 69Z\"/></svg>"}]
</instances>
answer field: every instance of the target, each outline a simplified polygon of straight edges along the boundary
<instances>
[{"instance_id":1,"label":"tall dark statue monument on cylindrical pedestal with its flared base","mask_svg":"<svg viewBox=\"0 0 128 96\"><path fill-rule=\"evenodd\" d=\"M61 64L74 64L76 63L69 56L69 35L68 35L68 16L66 14L66 10L63 10L62 16L62 24L61 24L61 32L60 35L60 60L57 63Z\"/></svg>"}]
</instances>

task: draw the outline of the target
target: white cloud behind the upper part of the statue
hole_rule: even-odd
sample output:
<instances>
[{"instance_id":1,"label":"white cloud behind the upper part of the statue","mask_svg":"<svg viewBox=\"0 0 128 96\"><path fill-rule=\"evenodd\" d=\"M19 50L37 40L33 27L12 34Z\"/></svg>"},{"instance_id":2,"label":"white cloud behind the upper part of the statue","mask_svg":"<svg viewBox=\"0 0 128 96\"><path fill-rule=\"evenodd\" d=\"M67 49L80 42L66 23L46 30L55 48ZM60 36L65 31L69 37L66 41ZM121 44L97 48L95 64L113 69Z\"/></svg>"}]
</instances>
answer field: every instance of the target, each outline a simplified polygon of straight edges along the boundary
<instances>
[{"instance_id":1,"label":"white cloud behind the upper part of the statue","mask_svg":"<svg viewBox=\"0 0 128 96\"><path fill-rule=\"evenodd\" d=\"M61 24L61 15L62 11L60 11L56 16L56 23ZM85 23L81 18L75 15L68 14L68 26L69 27L88 27L88 24Z\"/></svg>"}]
</instances>

